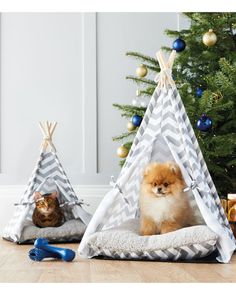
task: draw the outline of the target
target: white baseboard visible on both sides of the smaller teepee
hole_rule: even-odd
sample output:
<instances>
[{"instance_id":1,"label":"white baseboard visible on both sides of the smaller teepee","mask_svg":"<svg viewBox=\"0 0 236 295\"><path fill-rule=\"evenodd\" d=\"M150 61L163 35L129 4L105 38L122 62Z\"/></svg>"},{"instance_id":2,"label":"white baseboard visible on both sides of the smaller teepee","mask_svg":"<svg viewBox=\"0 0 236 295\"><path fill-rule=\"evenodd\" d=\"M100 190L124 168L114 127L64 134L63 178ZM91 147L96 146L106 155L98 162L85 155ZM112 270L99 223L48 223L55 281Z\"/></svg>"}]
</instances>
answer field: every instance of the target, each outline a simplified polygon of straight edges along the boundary
<instances>
[{"instance_id":1,"label":"white baseboard visible on both sides of the smaller teepee","mask_svg":"<svg viewBox=\"0 0 236 295\"><path fill-rule=\"evenodd\" d=\"M73 185L77 196L88 203L84 208L94 213L102 198L111 189L109 185ZM15 206L20 201L26 186L24 185L0 185L0 232L11 219Z\"/></svg>"}]
</instances>

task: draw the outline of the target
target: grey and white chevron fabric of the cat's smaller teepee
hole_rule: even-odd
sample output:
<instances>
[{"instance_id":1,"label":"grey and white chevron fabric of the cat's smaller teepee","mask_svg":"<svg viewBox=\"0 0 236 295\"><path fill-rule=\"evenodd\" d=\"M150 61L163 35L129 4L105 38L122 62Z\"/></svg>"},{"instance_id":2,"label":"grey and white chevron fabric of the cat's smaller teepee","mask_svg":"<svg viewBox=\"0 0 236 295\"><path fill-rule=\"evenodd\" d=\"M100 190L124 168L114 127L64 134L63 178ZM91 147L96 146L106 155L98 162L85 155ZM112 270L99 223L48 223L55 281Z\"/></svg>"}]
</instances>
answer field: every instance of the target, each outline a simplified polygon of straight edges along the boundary
<instances>
[{"instance_id":1,"label":"grey and white chevron fabric of the cat's smaller teepee","mask_svg":"<svg viewBox=\"0 0 236 295\"><path fill-rule=\"evenodd\" d=\"M32 224L35 191L42 194L58 191L59 203L68 203L62 207L66 220L81 219L84 224L89 223L91 215L82 208L83 202L77 198L56 153L42 151L15 214L4 229L4 238L18 242L23 228ZM71 207L70 202L76 205Z\"/></svg>"}]
</instances>

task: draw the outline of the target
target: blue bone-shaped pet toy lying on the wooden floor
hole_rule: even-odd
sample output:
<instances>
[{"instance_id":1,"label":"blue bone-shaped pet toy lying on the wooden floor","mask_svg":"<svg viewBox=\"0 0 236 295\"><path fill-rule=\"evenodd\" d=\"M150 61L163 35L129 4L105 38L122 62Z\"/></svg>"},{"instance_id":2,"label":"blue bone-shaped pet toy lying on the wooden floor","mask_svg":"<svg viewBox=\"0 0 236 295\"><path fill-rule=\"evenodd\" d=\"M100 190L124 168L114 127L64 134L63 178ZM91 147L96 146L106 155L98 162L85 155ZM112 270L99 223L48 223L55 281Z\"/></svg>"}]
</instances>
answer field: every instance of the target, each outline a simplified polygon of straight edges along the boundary
<instances>
[{"instance_id":1,"label":"blue bone-shaped pet toy lying on the wooden floor","mask_svg":"<svg viewBox=\"0 0 236 295\"><path fill-rule=\"evenodd\" d=\"M29 252L30 259L41 261L44 258L57 258L64 261L72 261L75 258L75 251L66 248L54 247L48 244L47 239L38 238L34 242L35 249Z\"/></svg>"}]
</instances>

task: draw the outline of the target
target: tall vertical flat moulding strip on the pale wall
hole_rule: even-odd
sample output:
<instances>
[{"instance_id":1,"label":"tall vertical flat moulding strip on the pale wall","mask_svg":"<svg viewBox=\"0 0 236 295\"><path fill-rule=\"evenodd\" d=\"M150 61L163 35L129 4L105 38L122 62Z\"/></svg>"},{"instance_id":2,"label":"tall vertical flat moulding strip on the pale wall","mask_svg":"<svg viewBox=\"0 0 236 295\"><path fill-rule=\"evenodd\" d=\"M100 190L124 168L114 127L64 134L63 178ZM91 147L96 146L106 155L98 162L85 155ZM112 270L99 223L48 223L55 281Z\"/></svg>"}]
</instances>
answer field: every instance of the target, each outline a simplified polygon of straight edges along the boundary
<instances>
[{"instance_id":1,"label":"tall vertical flat moulding strip on the pale wall","mask_svg":"<svg viewBox=\"0 0 236 295\"><path fill-rule=\"evenodd\" d=\"M82 15L83 64L83 167L82 173L96 174L97 155L97 36L96 13Z\"/></svg>"}]
</instances>

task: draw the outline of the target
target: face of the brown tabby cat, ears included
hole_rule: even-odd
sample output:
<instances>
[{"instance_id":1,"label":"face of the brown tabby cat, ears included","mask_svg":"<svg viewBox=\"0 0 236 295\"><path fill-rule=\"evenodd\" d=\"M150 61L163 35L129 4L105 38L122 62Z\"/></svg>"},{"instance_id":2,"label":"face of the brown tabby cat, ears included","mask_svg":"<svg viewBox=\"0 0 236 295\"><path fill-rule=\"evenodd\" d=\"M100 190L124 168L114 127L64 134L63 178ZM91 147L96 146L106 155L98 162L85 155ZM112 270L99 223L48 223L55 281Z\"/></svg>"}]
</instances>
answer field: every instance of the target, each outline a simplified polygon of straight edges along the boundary
<instances>
[{"instance_id":1,"label":"face of the brown tabby cat, ears included","mask_svg":"<svg viewBox=\"0 0 236 295\"><path fill-rule=\"evenodd\" d=\"M41 195L39 192L35 192L34 200L36 208L42 214L50 214L59 206L57 192L46 195Z\"/></svg>"}]
</instances>

